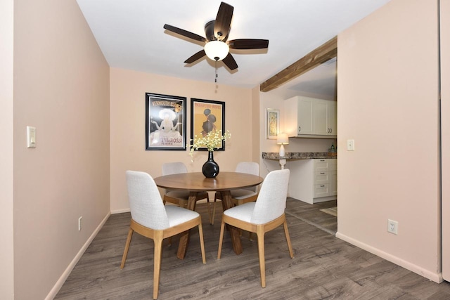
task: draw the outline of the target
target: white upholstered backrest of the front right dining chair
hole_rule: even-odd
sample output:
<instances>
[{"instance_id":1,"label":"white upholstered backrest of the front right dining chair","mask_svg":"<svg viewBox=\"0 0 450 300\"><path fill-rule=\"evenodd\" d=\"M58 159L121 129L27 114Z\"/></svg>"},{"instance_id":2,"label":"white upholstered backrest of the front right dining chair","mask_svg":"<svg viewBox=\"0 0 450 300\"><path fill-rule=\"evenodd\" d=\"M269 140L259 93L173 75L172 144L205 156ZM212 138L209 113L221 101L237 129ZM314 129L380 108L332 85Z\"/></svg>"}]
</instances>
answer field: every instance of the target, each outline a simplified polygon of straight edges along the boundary
<instances>
[{"instance_id":1,"label":"white upholstered backrest of the front right dining chair","mask_svg":"<svg viewBox=\"0 0 450 300\"><path fill-rule=\"evenodd\" d=\"M284 214L289 174L289 169L271 171L267 174L259 190L251 223L264 224Z\"/></svg>"}]
</instances>

